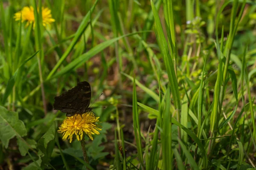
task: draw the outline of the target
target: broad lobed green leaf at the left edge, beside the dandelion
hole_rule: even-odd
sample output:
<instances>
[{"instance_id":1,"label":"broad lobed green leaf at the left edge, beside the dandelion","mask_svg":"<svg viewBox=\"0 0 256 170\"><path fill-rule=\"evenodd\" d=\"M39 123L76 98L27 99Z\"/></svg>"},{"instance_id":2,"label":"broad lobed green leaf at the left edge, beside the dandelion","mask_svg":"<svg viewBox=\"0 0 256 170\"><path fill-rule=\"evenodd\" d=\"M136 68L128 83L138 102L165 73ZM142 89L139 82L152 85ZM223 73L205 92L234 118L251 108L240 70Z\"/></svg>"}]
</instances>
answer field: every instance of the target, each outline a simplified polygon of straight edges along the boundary
<instances>
[{"instance_id":1,"label":"broad lobed green leaf at the left edge, beside the dandelion","mask_svg":"<svg viewBox=\"0 0 256 170\"><path fill-rule=\"evenodd\" d=\"M24 123L19 120L18 113L8 111L6 108L0 106L0 140L4 147L7 148L9 145L9 140L15 136L19 140L25 142L22 136L26 135L26 127Z\"/></svg>"}]
</instances>

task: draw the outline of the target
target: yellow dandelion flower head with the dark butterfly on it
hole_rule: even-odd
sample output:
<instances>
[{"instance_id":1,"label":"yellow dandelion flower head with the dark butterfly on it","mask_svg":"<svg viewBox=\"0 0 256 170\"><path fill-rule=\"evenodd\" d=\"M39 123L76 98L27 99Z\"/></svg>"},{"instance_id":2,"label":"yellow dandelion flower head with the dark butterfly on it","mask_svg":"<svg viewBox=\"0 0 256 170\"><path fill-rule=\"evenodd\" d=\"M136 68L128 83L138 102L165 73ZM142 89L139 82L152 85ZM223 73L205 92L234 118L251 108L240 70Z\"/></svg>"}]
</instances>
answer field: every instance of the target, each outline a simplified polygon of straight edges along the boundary
<instances>
[{"instance_id":1,"label":"yellow dandelion flower head with the dark butterfly on it","mask_svg":"<svg viewBox=\"0 0 256 170\"><path fill-rule=\"evenodd\" d=\"M62 139L69 139L70 143L73 141L73 136L76 135L76 139L81 141L83 134L86 134L93 140L93 134L99 134L98 130L101 130L97 123L99 117L95 117L93 112L84 113L82 115L74 115L66 117L59 127L58 133L62 134Z\"/></svg>"}]
</instances>

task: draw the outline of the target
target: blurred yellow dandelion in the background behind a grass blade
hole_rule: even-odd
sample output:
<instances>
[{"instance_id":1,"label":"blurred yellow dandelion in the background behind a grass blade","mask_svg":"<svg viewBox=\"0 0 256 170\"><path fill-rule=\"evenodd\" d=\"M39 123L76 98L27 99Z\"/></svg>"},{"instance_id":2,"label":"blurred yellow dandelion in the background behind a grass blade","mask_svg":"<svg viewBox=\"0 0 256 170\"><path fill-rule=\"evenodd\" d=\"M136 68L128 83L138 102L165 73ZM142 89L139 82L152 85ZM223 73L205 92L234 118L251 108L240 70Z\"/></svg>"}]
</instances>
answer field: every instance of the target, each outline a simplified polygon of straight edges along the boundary
<instances>
[{"instance_id":1,"label":"blurred yellow dandelion in the background behind a grass blade","mask_svg":"<svg viewBox=\"0 0 256 170\"><path fill-rule=\"evenodd\" d=\"M35 27L34 8L32 6L23 7L21 11L14 14L14 18L15 21L21 20L22 23L26 21L26 27L29 26L29 24L33 24L33 27ZM52 18L51 10L49 8L42 7L42 20L44 27L50 25L50 23L55 22L55 20Z\"/></svg>"}]
</instances>

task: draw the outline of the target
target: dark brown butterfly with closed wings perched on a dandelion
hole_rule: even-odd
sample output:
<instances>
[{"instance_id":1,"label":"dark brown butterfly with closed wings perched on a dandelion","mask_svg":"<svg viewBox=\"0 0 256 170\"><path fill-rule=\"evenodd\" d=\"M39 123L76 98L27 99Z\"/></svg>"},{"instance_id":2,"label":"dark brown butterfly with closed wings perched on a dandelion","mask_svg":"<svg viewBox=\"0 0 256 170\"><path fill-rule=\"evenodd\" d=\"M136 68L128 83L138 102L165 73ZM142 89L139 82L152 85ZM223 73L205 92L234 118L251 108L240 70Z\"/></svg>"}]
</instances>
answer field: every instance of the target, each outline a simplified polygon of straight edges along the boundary
<instances>
[{"instance_id":1,"label":"dark brown butterfly with closed wings perched on a dandelion","mask_svg":"<svg viewBox=\"0 0 256 170\"><path fill-rule=\"evenodd\" d=\"M93 109L89 107L91 88L90 84L86 81L79 82L76 87L64 92L60 96L55 96L54 99L53 109L67 113L67 117L83 114Z\"/></svg>"}]
</instances>

